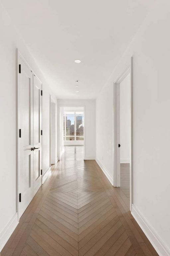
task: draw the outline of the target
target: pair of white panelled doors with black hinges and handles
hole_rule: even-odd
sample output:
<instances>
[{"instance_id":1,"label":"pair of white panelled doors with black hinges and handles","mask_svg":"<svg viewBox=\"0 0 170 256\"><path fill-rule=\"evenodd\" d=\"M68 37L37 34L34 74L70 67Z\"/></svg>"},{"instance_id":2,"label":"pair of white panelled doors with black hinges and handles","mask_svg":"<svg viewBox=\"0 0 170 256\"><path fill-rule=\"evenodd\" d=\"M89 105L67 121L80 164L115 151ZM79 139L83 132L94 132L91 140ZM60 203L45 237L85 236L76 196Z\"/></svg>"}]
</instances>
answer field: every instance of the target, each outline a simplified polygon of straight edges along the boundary
<instances>
[{"instance_id":1,"label":"pair of white panelled doors with black hinges and handles","mask_svg":"<svg viewBox=\"0 0 170 256\"><path fill-rule=\"evenodd\" d=\"M20 56L18 79L20 218L42 184L42 83Z\"/></svg>"}]
</instances>

